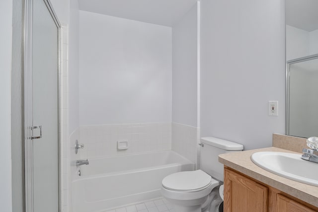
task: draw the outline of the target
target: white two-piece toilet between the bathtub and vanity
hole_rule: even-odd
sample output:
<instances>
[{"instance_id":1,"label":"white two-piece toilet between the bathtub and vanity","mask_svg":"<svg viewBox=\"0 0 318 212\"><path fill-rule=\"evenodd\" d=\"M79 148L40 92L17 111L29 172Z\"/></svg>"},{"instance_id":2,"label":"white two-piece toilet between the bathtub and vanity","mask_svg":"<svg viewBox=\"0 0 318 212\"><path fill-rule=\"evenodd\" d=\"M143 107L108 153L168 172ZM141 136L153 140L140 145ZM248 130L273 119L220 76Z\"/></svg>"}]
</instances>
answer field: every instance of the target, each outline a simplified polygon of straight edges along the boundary
<instances>
[{"instance_id":1,"label":"white two-piece toilet between the bathtub and vanity","mask_svg":"<svg viewBox=\"0 0 318 212\"><path fill-rule=\"evenodd\" d=\"M163 178L161 194L176 212L223 212L223 164L218 155L243 145L214 137L201 138L201 169Z\"/></svg>"}]
</instances>

